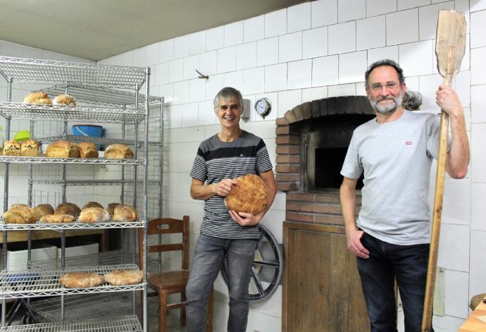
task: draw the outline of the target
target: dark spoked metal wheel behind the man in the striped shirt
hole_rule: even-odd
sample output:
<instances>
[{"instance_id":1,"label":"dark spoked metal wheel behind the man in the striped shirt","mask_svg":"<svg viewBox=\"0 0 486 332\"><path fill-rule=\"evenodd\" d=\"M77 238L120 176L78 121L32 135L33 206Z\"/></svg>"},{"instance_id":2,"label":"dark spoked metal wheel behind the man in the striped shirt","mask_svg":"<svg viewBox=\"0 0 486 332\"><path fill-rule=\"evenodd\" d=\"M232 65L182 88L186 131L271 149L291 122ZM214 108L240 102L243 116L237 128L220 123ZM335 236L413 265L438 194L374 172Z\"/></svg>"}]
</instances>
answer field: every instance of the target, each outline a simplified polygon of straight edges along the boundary
<instances>
[{"instance_id":1,"label":"dark spoked metal wheel behind the man in the striped shirt","mask_svg":"<svg viewBox=\"0 0 486 332\"><path fill-rule=\"evenodd\" d=\"M282 247L268 228L261 224L258 224L258 228L260 228L260 242L255 250L249 285L249 300L252 302L261 301L272 295L280 285L283 272ZM221 269L221 275L228 285L226 261Z\"/></svg>"}]
</instances>

